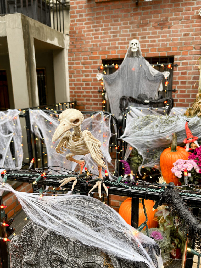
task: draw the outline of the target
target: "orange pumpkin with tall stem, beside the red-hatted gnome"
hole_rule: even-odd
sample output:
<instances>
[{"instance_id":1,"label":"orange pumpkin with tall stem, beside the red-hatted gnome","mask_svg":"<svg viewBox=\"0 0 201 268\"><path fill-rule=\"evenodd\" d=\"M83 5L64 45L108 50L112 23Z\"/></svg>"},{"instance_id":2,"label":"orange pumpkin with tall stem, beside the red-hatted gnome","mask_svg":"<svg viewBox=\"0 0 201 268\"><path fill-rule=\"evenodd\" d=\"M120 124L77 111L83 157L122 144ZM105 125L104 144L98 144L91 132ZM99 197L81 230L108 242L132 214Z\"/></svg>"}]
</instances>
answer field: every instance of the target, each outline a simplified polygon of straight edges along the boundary
<instances>
[{"instance_id":1,"label":"orange pumpkin with tall stem, beside the red-hatted gnome","mask_svg":"<svg viewBox=\"0 0 201 268\"><path fill-rule=\"evenodd\" d=\"M172 181L174 185L181 185L179 179L174 176L171 169L177 159L187 160L188 157L188 152L183 147L177 146L177 135L173 133L171 148L166 148L160 157L161 172L166 183Z\"/></svg>"}]
</instances>

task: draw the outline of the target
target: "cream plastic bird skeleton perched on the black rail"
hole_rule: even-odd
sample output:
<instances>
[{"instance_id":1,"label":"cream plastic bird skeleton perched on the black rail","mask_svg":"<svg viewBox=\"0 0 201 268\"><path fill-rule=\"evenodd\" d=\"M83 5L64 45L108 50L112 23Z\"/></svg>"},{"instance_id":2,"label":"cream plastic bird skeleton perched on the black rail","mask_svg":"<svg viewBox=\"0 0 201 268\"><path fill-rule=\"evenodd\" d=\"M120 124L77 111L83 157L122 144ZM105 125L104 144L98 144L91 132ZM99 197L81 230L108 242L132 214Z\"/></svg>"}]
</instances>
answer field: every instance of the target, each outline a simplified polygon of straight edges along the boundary
<instances>
[{"instance_id":1,"label":"cream plastic bird skeleton perched on the black rail","mask_svg":"<svg viewBox=\"0 0 201 268\"><path fill-rule=\"evenodd\" d=\"M105 162L103 161L103 154L100 150L101 142L91 134L90 131L84 130L81 131L81 123L84 120L83 114L76 109L66 109L62 111L59 115L60 124L56 128L54 135L52 137L52 142L61 137L59 141L56 152L58 154L64 154L66 151L65 148L68 148L71 153L66 155L66 159L69 161L73 161L79 164L80 166L80 174L82 174L83 167L84 167L84 160L77 160L74 159L73 156L75 155L86 155L88 153L91 154L92 159L98 164L98 178L103 179L101 170L102 167L107 169ZM73 128L73 132L70 132L69 129ZM72 190L77 183L76 177L64 178L63 180L59 181L61 183L59 187L62 187L64 184L68 183L69 181L74 180ZM101 198L101 181L97 181L94 187L89 191L93 191L96 187L98 187L98 193ZM103 188L105 189L108 195L108 189L103 183Z\"/></svg>"}]
</instances>

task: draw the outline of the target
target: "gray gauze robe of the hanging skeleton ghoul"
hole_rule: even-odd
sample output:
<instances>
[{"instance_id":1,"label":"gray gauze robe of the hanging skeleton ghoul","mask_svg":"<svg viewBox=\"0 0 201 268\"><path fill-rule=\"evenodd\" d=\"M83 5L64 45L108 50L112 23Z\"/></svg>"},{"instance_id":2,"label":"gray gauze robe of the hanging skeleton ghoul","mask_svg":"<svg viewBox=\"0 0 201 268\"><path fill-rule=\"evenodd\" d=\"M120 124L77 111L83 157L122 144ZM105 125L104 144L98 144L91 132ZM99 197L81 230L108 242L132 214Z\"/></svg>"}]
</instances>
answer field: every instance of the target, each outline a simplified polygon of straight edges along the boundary
<instances>
[{"instance_id":1,"label":"gray gauze robe of the hanging skeleton ghoul","mask_svg":"<svg viewBox=\"0 0 201 268\"><path fill-rule=\"evenodd\" d=\"M115 73L103 76L111 112L118 118L119 100L123 95L137 98L139 94L146 94L154 99L163 77L163 73L154 69L144 57L125 58Z\"/></svg>"}]
</instances>

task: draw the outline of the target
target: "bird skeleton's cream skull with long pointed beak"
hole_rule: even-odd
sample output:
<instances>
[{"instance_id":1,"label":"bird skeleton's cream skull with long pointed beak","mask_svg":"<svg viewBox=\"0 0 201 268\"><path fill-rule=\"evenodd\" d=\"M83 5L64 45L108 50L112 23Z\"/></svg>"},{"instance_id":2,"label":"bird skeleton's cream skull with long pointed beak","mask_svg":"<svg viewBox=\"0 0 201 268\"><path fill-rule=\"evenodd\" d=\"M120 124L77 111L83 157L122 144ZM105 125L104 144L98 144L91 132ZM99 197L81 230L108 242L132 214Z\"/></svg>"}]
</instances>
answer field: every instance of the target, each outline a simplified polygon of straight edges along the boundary
<instances>
[{"instance_id":1,"label":"bird skeleton's cream skull with long pointed beak","mask_svg":"<svg viewBox=\"0 0 201 268\"><path fill-rule=\"evenodd\" d=\"M66 109L59 115L60 124L56 128L52 137L52 142L58 140L66 131L81 125L84 120L83 114L76 109Z\"/></svg>"}]
</instances>

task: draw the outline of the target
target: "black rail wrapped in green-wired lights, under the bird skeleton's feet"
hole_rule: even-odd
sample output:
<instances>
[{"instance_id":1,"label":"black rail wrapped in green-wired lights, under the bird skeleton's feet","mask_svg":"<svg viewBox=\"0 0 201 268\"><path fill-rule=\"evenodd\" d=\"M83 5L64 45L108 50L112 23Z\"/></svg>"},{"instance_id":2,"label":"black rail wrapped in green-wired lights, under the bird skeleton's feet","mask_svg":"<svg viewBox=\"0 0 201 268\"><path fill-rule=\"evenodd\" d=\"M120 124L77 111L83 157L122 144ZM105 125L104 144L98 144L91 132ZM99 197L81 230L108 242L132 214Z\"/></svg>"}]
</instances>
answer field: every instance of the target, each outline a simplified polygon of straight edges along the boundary
<instances>
[{"instance_id":1,"label":"black rail wrapped in green-wired lights, under the bird skeleton's feet","mask_svg":"<svg viewBox=\"0 0 201 268\"><path fill-rule=\"evenodd\" d=\"M50 174L54 171L55 174ZM44 174L46 173L46 174ZM61 174L63 173L63 174ZM41 176L44 174L43 176ZM38 168L38 169L26 169L23 172L23 169L17 170L17 169L10 169L10 170L4 170L1 173L2 178L5 178L11 181L22 181L22 182L28 182L28 183L34 183L34 181L37 181L37 179L40 177L40 179L37 181L40 185L49 185L53 187L59 186L59 181L64 177L76 177L79 183L75 186L76 189L81 190L83 193L88 192L91 188L93 188L94 184L96 183L98 179L97 174L93 174L90 171L87 173L79 174L76 172L73 172L71 170L68 171L68 173L64 174L61 170L59 170L59 167L47 167L45 168ZM89 176L89 179L87 177ZM87 179L87 180L86 180ZM131 189L129 189L129 185L132 182ZM106 173L106 178L104 180L104 183L106 184L106 187L109 191L109 193L112 194L118 194L118 195L124 195L137 198L147 198L151 200L159 200L161 197L162 192L164 192L164 184L160 183L147 183L145 181L141 180L131 180L131 179L123 179L121 176L118 177L117 180L108 180L108 175ZM36 184L36 183L34 183ZM175 186L175 185L166 185L168 188L174 188L179 195L184 199L187 200L188 205L193 205L196 207L201 206L201 193L200 189L195 184L188 184L188 185L181 185L181 186ZM186 190L187 187L191 187L191 190ZM70 190L72 188L72 182L69 182L65 185L65 188ZM51 190L58 192L58 190ZM62 190L64 191L64 190ZM94 191L97 191L96 189ZM130 193L131 191L131 193ZM165 200L163 200L165 201Z\"/></svg>"}]
</instances>

